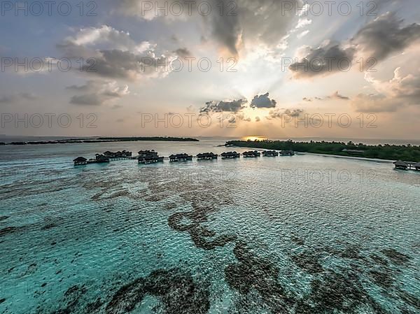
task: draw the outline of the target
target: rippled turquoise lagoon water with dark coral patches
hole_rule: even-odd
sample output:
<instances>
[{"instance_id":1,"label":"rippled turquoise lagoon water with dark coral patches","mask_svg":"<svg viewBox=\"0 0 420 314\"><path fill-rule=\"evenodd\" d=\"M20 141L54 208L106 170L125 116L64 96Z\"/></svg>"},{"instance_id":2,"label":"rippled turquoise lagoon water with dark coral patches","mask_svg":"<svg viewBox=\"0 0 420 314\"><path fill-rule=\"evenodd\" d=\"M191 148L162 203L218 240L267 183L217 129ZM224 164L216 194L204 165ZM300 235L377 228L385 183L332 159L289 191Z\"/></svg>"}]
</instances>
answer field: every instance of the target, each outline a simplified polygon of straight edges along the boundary
<instances>
[{"instance_id":1,"label":"rippled turquoise lagoon water with dark coral patches","mask_svg":"<svg viewBox=\"0 0 420 314\"><path fill-rule=\"evenodd\" d=\"M0 147L0 313L420 313L420 173L318 155L71 163L221 144Z\"/></svg>"}]
</instances>

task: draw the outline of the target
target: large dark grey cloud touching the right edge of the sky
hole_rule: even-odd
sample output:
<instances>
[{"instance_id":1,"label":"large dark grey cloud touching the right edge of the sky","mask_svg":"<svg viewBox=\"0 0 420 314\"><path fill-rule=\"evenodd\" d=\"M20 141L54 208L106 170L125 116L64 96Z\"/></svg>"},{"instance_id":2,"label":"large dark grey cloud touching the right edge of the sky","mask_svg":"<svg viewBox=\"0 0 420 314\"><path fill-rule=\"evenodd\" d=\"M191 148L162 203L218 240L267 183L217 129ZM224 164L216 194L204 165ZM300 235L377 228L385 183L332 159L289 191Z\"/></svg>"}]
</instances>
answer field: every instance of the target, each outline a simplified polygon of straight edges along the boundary
<instances>
[{"instance_id":1,"label":"large dark grey cloud touching the right edge of the sky","mask_svg":"<svg viewBox=\"0 0 420 314\"><path fill-rule=\"evenodd\" d=\"M402 27L403 22L395 13L388 12L365 24L353 36L351 43L365 57L373 57L377 61L386 59L420 39L420 24Z\"/></svg>"}]
</instances>

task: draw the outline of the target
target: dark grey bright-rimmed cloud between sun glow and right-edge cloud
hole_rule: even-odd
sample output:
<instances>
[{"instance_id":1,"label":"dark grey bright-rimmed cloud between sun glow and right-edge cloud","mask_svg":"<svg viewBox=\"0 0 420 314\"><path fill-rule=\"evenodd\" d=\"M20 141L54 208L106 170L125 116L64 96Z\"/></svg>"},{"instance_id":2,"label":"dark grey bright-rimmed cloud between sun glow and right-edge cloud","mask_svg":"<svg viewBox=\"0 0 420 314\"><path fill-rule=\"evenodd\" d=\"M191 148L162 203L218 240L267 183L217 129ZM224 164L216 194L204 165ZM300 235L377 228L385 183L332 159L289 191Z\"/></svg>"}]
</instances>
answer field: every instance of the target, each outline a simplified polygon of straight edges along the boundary
<instances>
[{"instance_id":1,"label":"dark grey bright-rimmed cloud between sun glow and right-edge cloud","mask_svg":"<svg viewBox=\"0 0 420 314\"><path fill-rule=\"evenodd\" d=\"M301 48L304 57L291 64L289 69L293 71L295 78L311 78L346 71L353 60L354 52L351 47L343 48L339 43L326 41L318 48Z\"/></svg>"}]
</instances>

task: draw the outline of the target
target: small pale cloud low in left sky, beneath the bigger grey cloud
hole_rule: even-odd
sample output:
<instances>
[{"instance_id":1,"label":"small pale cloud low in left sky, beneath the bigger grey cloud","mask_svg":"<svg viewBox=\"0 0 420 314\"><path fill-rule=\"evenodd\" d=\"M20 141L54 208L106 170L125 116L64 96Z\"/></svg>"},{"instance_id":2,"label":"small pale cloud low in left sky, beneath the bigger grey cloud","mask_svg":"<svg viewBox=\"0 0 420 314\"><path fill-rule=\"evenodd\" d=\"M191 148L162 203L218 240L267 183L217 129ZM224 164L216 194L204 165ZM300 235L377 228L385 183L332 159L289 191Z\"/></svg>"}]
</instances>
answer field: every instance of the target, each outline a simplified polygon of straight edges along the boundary
<instances>
[{"instance_id":1,"label":"small pale cloud low in left sky, beneath the bigger grey cloud","mask_svg":"<svg viewBox=\"0 0 420 314\"><path fill-rule=\"evenodd\" d=\"M100 106L107 101L120 99L127 94L130 94L127 85L120 87L116 81L97 82L90 80L85 85L71 85L66 87L66 90L82 93L71 97L70 104L86 106ZM115 106L113 106L113 108L115 108Z\"/></svg>"}]
</instances>

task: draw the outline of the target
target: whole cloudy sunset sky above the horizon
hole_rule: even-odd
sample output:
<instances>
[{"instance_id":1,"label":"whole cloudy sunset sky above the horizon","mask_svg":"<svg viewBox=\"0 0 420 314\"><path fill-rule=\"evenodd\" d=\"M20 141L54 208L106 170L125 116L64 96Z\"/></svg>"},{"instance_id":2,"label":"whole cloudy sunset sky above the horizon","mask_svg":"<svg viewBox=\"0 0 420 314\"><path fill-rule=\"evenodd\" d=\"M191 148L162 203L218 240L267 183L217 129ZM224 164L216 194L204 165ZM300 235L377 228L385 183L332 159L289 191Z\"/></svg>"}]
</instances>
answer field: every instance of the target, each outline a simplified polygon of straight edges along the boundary
<instances>
[{"instance_id":1,"label":"whole cloudy sunset sky above the horizon","mask_svg":"<svg viewBox=\"0 0 420 314\"><path fill-rule=\"evenodd\" d=\"M417 2L1 1L0 134L416 139Z\"/></svg>"}]
</instances>

